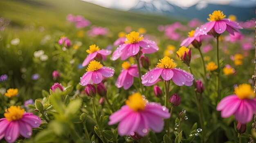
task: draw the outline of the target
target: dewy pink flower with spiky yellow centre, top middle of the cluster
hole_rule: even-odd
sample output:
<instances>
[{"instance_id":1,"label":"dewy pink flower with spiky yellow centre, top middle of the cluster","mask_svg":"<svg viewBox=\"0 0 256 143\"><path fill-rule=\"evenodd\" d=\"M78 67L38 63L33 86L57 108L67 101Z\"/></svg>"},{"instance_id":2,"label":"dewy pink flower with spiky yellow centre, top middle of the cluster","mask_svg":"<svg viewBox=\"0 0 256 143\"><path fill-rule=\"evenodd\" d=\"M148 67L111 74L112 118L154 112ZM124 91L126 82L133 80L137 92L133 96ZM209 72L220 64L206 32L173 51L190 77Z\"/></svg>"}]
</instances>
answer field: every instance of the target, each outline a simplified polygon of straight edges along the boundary
<instances>
[{"instance_id":1,"label":"dewy pink flower with spiky yellow centre, top middle of the cluster","mask_svg":"<svg viewBox=\"0 0 256 143\"><path fill-rule=\"evenodd\" d=\"M139 37L139 33L132 31L130 34L126 35L125 44L120 45L112 55L112 60L116 60L121 57L121 60L128 59L130 56L134 56L140 51L149 54L158 51L158 46L154 41L144 40L143 35Z\"/></svg>"}]
</instances>

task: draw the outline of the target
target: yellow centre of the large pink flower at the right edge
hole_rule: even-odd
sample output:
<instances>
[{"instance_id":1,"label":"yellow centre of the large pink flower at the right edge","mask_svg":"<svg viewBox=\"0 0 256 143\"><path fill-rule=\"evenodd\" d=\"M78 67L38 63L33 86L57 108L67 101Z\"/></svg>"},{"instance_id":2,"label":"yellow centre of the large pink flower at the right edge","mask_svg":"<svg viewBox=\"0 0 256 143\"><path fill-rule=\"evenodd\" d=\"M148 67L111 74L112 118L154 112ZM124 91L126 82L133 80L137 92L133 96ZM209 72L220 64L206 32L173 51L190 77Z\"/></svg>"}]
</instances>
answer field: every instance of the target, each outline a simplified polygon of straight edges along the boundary
<instances>
[{"instance_id":1,"label":"yellow centre of the large pink flower at the right edge","mask_svg":"<svg viewBox=\"0 0 256 143\"><path fill-rule=\"evenodd\" d=\"M240 99L253 99L255 98L255 93L252 90L251 85L249 84L240 84L238 87L235 88L235 94Z\"/></svg>"}]
</instances>

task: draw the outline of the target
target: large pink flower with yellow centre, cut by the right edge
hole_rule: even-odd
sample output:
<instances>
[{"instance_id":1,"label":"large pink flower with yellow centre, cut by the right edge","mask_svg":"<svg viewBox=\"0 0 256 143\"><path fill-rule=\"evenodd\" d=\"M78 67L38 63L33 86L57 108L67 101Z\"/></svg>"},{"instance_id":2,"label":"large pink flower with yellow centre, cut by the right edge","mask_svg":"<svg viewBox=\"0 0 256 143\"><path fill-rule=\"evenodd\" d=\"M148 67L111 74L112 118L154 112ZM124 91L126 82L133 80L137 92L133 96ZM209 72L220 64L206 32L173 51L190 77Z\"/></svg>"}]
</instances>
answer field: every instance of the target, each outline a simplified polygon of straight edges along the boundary
<instances>
[{"instance_id":1,"label":"large pink flower with yellow centre, cut by the right edge","mask_svg":"<svg viewBox=\"0 0 256 143\"><path fill-rule=\"evenodd\" d=\"M256 98L251 85L241 84L234 88L235 94L224 97L216 107L221 111L221 117L227 118L235 115L235 119L242 124L252 120L256 113Z\"/></svg>"}]
</instances>

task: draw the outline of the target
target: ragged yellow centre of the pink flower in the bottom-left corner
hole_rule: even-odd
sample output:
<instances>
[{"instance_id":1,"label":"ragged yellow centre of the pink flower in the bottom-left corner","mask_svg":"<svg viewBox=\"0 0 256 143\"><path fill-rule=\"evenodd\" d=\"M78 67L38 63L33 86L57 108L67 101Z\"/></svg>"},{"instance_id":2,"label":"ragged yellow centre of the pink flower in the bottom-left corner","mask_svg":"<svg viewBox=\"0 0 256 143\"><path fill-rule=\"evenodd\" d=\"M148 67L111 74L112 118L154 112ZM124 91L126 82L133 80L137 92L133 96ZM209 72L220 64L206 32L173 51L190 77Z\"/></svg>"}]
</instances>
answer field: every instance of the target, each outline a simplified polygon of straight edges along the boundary
<instances>
[{"instance_id":1,"label":"ragged yellow centre of the pink flower in the bottom-left corner","mask_svg":"<svg viewBox=\"0 0 256 143\"><path fill-rule=\"evenodd\" d=\"M5 110L4 117L7 121L14 121L21 119L25 109L20 109L20 106L11 106Z\"/></svg>"}]
</instances>

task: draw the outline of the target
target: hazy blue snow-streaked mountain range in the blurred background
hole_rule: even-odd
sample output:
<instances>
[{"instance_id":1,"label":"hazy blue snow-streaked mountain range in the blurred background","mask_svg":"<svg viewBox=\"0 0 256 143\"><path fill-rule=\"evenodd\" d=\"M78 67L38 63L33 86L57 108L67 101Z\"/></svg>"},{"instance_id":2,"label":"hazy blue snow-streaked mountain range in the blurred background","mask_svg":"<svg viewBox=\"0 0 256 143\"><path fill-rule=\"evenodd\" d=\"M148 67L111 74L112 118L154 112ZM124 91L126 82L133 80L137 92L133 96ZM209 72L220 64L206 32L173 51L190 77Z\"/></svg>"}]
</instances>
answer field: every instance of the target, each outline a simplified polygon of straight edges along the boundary
<instances>
[{"instance_id":1,"label":"hazy blue snow-streaked mountain range in the blurred background","mask_svg":"<svg viewBox=\"0 0 256 143\"><path fill-rule=\"evenodd\" d=\"M243 1L246 3L246 0ZM245 5L247 5L245 7ZM206 2L199 2L191 7L178 7L167 0L153 0L153 1L138 1L138 3L130 9L130 11L142 13L158 13L164 14L172 18L188 19L198 18L206 21L208 14L214 10L221 10L225 15L236 15L239 21L246 21L255 18L255 2L254 4L244 4L243 7L238 7L238 4L220 5L208 4Z\"/></svg>"}]
</instances>

